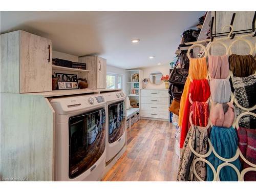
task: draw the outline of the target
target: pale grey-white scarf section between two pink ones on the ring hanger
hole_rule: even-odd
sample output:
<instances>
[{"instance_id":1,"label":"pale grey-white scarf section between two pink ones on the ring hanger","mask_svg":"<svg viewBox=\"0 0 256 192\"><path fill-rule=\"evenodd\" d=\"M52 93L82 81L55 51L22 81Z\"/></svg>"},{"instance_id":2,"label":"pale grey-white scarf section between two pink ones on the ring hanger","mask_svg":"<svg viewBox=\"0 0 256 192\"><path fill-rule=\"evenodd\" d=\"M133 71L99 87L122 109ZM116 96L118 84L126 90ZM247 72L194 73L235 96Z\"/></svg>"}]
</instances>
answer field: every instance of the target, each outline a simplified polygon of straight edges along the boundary
<instances>
[{"instance_id":1,"label":"pale grey-white scarf section between two pink ones on the ring hanger","mask_svg":"<svg viewBox=\"0 0 256 192\"><path fill-rule=\"evenodd\" d=\"M228 79L211 79L209 84L212 101L216 103L229 102L231 87Z\"/></svg>"}]
</instances>

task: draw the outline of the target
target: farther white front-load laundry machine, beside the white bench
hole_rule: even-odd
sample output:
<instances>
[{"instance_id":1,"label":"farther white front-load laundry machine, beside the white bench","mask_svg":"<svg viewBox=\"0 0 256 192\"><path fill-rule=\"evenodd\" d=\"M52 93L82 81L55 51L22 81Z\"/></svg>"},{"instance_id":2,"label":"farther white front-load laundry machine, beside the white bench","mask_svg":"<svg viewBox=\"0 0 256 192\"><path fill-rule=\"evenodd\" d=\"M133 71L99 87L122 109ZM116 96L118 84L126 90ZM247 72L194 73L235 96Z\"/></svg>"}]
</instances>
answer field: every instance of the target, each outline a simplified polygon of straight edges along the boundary
<instances>
[{"instance_id":1,"label":"farther white front-load laundry machine, beside the white bench","mask_svg":"<svg viewBox=\"0 0 256 192\"><path fill-rule=\"evenodd\" d=\"M102 95L106 100L106 165L108 165L126 146L126 104L122 91Z\"/></svg>"}]
</instances>

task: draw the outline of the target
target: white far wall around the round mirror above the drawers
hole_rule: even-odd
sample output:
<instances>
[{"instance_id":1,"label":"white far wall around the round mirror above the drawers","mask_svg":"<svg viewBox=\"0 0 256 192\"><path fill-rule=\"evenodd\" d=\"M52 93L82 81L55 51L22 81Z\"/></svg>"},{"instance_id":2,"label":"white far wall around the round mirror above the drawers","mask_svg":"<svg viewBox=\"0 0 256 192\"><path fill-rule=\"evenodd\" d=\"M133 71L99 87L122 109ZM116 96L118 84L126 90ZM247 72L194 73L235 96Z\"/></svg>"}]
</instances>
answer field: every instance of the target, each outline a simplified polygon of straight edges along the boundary
<instances>
[{"instance_id":1,"label":"white far wall around the round mirror above the drawers","mask_svg":"<svg viewBox=\"0 0 256 192\"><path fill-rule=\"evenodd\" d=\"M160 66L141 68L141 70L143 71L143 78L149 79L150 73L153 71L160 71L163 75L169 75L169 66L169 64L165 64ZM164 82L162 82L161 84L152 84L150 81L148 81L147 88L165 89L165 85Z\"/></svg>"}]
</instances>

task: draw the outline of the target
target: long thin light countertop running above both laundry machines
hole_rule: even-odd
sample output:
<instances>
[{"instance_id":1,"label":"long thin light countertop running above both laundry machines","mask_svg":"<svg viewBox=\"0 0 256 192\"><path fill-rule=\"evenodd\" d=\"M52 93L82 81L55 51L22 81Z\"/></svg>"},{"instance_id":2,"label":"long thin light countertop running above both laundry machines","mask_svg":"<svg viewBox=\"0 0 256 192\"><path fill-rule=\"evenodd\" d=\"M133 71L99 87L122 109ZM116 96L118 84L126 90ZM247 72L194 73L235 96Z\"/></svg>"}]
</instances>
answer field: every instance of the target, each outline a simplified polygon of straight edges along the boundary
<instances>
[{"instance_id":1,"label":"long thin light countertop running above both laundry machines","mask_svg":"<svg viewBox=\"0 0 256 192\"><path fill-rule=\"evenodd\" d=\"M121 91L121 90L122 89L76 89L76 90L54 90L50 92L23 93L23 94L41 95L44 97L57 97L57 96L77 95L77 94L87 94L87 93L100 94L106 91Z\"/></svg>"}]
</instances>

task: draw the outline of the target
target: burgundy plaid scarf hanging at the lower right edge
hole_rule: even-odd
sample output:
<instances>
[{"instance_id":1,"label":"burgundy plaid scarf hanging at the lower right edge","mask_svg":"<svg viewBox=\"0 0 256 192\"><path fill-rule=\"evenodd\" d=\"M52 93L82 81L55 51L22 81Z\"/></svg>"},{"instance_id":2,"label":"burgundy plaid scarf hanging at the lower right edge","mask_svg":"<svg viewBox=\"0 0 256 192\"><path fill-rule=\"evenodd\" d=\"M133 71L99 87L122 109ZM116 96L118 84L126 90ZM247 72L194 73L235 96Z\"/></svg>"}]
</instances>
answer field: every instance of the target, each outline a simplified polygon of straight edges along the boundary
<instances>
[{"instance_id":1,"label":"burgundy plaid scarf hanging at the lower right edge","mask_svg":"<svg viewBox=\"0 0 256 192\"><path fill-rule=\"evenodd\" d=\"M238 132L238 146L241 153L249 162L256 164L256 127L254 130L239 127ZM243 169L250 167L246 162L240 159ZM247 172L244 175L245 181L256 181L256 172Z\"/></svg>"}]
</instances>

